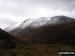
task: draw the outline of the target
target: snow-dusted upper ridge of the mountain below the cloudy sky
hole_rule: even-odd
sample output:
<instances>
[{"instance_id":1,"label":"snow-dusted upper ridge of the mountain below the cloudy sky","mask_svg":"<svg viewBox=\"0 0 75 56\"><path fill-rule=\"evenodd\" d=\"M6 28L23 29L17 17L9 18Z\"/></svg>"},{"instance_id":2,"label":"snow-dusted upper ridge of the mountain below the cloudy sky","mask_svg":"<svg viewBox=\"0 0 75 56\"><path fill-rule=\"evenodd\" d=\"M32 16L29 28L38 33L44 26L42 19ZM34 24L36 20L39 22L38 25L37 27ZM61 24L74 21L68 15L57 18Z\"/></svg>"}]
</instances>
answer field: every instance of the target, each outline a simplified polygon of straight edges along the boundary
<instances>
[{"instance_id":1,"label":"snow-dusted upper ridge of the mountain below the cloudy sky","mask_svg":"<svg viewBox=\"0 0 75 56\"><path fill-rule=\"evenodd\" d=\"M19 29L19 31L20 31L20 30L25 29L27 27L37 28L37 27L40 27L40 26L43 26L43 25L48 25L48 24L53 25L53 24L71 22L71 21L74 21L74 20L75 19L70 18L70 17L66 17L66 16L55 16L55 17L51 17L51 18L41 17L41 18L38 18L38 19L27 19L22 23L11 25L11 26L5 28L4 30L9 32L9 31L12 31L12 30L15 30L15 29Z\"/></svg>"}]
</instances>

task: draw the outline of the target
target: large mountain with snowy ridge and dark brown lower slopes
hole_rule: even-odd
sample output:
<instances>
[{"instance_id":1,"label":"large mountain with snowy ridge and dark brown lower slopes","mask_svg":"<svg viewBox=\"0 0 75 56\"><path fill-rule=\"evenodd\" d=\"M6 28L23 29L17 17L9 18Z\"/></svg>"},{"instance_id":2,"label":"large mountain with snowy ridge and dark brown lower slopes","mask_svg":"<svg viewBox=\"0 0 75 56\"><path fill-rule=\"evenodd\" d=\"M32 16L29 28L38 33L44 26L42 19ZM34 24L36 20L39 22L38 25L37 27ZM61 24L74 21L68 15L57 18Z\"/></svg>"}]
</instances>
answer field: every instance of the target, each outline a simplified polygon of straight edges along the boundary
<instances>
[{"instance_id":1,"label":"large mountain with snowy ridge and dark brown lower slopes","mask_svg":"<svg viewBox=\"0 0 75 56\"><path fill-rule=\"evenodd\" d=\"M75 19L66 16L28 19L9 33L39 43L75 44Z\"/></svg>"}]
</instances>

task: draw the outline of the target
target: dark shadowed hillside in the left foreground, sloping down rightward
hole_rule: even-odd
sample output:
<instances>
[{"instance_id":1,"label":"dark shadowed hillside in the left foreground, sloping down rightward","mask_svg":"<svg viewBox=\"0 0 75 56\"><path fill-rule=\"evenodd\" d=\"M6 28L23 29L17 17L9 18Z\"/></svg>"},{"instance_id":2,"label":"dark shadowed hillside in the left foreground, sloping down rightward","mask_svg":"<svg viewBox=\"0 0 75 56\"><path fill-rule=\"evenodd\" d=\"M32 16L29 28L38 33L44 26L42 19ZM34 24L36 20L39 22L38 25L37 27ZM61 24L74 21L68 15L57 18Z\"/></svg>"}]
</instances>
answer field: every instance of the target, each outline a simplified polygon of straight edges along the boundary
<instances>
[{"instance_id":1,"label":"dark shadowed hillside in the left foreground, sloping down rightward","mask_svg":"<svg viewBox=\"0 0 75 56\"><path fill-rule=\"evenodd\" d=\"M0 29L0 48L15 48L18 40Z\"/></svg>"}]
</instances>

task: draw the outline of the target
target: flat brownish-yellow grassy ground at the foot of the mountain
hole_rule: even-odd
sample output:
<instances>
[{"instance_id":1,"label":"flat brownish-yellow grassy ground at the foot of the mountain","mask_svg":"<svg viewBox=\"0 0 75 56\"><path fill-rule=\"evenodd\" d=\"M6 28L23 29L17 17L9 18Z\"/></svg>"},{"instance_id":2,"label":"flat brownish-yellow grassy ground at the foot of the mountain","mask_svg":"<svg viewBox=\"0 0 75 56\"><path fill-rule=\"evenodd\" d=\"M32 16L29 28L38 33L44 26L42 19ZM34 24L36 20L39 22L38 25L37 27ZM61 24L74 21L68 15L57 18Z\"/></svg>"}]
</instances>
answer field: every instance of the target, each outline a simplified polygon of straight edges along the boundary
<instances>
[{"instance_id":1,"label":"flat brownish-yellow grassy ground at the foot of the mountain","mask_svg":"<svg viewBox=\"0 0 75 56\"><path fill-rule=\"evenodd\" d=\"M75 51L72 46L63 44L31 44L14 49L1 49L0 56L59 56L59 51Z\"/></svg>"}]
</instances>

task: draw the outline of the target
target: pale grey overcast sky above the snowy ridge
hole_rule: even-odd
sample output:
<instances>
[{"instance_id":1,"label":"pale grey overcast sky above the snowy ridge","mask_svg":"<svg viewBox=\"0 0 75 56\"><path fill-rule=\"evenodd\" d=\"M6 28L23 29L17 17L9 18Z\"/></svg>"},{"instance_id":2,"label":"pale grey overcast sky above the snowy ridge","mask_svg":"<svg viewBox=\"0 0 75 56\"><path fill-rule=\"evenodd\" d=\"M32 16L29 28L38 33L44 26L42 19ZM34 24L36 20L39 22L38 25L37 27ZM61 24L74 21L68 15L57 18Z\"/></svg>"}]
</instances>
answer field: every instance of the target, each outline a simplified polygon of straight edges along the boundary
<instances>
[{"instance_id":1,"label":"pale grey overcast sky above the snowy ridge","mask_svg":"<svg viewBox=\"0 0 75 56\"><path fill-rule=\"evenodd\" d=\"M65 15L75 18L75 0L0 0L0 28L27 18Z\"/></svg>"}]
</instances>

